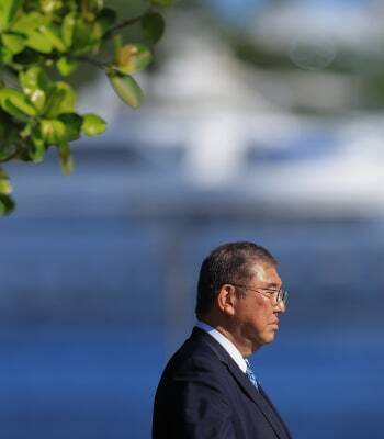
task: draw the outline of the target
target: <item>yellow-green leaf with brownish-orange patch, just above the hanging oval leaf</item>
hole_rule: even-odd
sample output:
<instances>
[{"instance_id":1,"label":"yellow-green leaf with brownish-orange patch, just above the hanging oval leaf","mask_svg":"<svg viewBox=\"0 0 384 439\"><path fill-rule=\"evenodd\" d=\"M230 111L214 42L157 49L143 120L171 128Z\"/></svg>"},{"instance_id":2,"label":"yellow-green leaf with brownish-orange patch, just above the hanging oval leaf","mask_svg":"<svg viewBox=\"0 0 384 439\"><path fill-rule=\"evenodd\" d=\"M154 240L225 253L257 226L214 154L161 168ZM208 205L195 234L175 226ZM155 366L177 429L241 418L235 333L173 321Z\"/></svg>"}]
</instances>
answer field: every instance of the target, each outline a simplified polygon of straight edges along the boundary
<instances>
[{"instance_id":1,"label":"yellow-green leaf with brownish-orange patch, just above the hanging oval leaf","mask_svg":"<svg viewBox=\"0 0 384 439\"><path fill-rule=\"evenodd\" d=\"M115 50L115 61L122 74L132 75L143 70L153 56L144 44L126 44Z\"/></svg>"}]
</instances>

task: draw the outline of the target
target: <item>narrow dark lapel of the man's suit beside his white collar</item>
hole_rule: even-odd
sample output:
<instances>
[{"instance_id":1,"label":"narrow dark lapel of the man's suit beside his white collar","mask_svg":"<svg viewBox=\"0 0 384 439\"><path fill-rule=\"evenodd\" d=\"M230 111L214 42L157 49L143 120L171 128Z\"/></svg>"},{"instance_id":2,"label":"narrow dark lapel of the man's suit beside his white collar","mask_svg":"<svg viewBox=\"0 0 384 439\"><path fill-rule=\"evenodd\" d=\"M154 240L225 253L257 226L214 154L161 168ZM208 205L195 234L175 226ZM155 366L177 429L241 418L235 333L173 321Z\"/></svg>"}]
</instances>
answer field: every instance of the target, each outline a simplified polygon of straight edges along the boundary
<instances>
[{"instance_id":1,"label":"narrow dark lapel of the man's suit beside his white collar","mask_svg":"<svg viewBox=\"0 0 384 439\"><path fill-rule=\"evenodd\" d=\"M276 414L266 393L262 390L261 392L256 390L253 384L248 380L247 375L241 372L228 352L213 337L202 329L194 328L192 335L203 337L204 342L206 342L218 359L226 364L230 374L235 378L242 391L255 402L264 415L276 436L281 439L290 437L285 430L284 423Z\"/></svg>"}]
</instances>

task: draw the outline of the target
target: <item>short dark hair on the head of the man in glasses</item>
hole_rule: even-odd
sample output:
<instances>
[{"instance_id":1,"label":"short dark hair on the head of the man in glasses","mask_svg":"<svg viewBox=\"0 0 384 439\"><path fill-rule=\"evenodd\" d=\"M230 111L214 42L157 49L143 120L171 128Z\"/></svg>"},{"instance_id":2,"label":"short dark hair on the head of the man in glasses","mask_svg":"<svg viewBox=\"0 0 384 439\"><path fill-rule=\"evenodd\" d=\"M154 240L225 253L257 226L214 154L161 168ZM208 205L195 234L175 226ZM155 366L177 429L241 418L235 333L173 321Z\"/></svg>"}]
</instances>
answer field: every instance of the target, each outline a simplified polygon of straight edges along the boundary
<instances>
[{"instance_id":1,"label":"short dark hair on the head of the man in glasses","mask_svg":"<svg viewBox=\"0 0 384 439\"><path fill-rule=\"evenodd\" d=\"M242 283L255 275L251 271L255 262L273 267L278 264L266 248L253 243L229 243L212 250L200 269L196 316L201 317L210 312L222 285Z\"/></svg>"}]
</instances>

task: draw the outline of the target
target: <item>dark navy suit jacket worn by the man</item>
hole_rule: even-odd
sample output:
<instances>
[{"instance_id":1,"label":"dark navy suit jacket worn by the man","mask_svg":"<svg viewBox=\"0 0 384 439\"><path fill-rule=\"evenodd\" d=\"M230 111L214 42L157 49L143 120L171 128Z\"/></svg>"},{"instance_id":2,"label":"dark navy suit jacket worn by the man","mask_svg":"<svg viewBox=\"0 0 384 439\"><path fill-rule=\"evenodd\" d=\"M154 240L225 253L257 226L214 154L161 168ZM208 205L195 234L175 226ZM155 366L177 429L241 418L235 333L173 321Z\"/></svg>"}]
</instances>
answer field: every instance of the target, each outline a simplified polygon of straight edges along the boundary
<instances>
[{"instance_id":1,"label":"dark navy suit jacket worn by the man","mask_svg":"<svg viewBox=\"0 0 384 439\"><path fill-rule=\"evenodd\" d=\"M154 439L292 439L276 409L226 350L194 328L156 392Z\"/></svg>"}]
</instances>

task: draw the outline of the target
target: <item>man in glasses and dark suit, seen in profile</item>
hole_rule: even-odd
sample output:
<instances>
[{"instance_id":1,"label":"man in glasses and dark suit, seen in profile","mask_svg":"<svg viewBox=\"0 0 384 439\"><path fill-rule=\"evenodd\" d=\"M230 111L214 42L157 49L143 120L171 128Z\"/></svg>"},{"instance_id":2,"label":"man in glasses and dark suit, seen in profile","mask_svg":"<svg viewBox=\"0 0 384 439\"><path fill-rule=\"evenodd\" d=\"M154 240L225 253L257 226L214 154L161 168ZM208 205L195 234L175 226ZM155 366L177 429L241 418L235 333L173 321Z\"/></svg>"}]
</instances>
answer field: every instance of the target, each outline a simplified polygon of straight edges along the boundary
<instances>
[{"instance_id":1,"label":"man in glasses and dark suit, seen in profile","mask_svg":"<svg viewBox=\"0 0 384 439\"><path fill-rule=\"evenodd\" d=\"M167 364L154 439L291 439L247 357L274 340L286 292L272 255L252 243L214 249L197 285L197 324Z\"/></svg>"}]
</instances>

